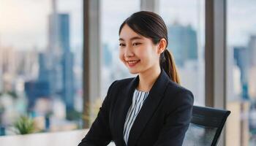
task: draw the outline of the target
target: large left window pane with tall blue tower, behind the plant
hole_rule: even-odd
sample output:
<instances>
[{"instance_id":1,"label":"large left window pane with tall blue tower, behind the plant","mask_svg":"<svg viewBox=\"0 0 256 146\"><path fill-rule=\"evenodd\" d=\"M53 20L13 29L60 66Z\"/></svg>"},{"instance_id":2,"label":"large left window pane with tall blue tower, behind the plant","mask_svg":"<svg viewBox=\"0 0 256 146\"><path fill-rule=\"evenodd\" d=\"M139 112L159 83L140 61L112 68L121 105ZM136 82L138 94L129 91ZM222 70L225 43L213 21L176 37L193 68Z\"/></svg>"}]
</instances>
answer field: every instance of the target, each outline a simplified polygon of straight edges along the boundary
<instances>
[{"instance_id":1,"label":"large left window pane with tall blue tower, behind the plant","mask_svg":"<svg viewBox=\"0 0 256 146\"><path fill-rule=\"evenodd\" d=\"M0 135L81 128L83 1L0 0L0 20Z\"/></svg>"}]
</instances>

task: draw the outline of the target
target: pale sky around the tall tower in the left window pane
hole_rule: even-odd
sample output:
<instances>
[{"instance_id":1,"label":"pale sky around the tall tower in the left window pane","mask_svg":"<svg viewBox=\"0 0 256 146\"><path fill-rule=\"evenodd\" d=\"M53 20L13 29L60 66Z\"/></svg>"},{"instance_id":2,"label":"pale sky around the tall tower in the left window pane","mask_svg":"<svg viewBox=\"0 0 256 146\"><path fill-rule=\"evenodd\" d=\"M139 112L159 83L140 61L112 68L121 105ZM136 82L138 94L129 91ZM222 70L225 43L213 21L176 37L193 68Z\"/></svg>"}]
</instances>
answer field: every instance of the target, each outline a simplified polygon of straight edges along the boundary
<instances>
[{"instance_id":1,"label":"pale sky around the tall tower in the left window pane","mask_svg":"<svg viewBox=\"0 0 256 146\"><path fill-rule=\"evenodd\" d=\"M58 11L70 15L72 45L82 41L82 7L82 0L58 1ZM51 0L0 0L1 45L25 50L47 46L51 11Z\"/></svg>"}]
</instances>

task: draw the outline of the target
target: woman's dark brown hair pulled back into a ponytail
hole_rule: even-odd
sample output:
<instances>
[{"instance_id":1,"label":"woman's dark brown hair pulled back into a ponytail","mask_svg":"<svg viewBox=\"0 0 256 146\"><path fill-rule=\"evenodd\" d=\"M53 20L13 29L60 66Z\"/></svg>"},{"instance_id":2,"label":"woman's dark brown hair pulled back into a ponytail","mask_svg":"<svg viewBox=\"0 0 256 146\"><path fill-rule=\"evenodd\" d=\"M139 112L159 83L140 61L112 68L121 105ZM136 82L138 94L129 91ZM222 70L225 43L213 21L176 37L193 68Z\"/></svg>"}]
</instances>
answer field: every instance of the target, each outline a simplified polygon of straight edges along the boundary
<instances>
[{"instance_id":1,"label":"woman's dark brown hair pulled back into a ponytail","mask_svg":"<svg viewBox=\"0 0 256 146\"><path fill-rule=\"evenodd\" d=\"M167 27L165 22L154 12L135 12L121 24L119 28L119 35L125 24L132 28L132 30L137 34L150 38L154 45L157 45L162 38L166 40L168 45ZM160 55L159 64L160 67L165 69L165 72L167 72L167 75L171 80L180 84L173 55L167 50L167 48L165 48L165 51Z\"/></svg>"}]
</instances>

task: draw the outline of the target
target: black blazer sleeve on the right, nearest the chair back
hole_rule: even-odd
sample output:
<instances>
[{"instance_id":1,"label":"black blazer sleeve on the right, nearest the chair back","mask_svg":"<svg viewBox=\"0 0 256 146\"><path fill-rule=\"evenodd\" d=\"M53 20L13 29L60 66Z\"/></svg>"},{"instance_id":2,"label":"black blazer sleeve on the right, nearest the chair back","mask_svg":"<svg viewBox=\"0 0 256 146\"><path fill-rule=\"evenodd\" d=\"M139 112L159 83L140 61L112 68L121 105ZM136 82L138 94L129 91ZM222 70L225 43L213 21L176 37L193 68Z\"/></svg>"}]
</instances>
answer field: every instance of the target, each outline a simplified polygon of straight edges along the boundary
<instances>
[{"instance_id":1,"label":"black blazer sleeve on the right, nearest the chair back","mask_svg":"<svg viewBox=\"0 0 256 146\"><path fill-rule=\"evenodd\" d=\"M184 141L192 118L194 96L190 91L181 91L172 102L170 105L176 108L167 113L165 124L154 146L181 146Z\"/></svg>"}]
</instances>

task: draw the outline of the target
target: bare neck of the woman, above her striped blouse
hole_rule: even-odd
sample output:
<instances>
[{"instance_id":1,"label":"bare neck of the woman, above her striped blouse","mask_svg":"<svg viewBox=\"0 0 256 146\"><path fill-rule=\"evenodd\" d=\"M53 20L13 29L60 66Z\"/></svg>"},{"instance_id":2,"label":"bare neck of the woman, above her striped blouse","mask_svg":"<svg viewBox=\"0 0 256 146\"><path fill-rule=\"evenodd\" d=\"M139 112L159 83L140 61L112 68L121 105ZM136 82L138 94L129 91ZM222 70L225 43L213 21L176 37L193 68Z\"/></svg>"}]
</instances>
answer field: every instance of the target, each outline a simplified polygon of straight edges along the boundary
<instances>
[{"instance_id":1,"label":"bare neck of the woman, above her striped blouse","mask_svg":"<svg viewBox=\"0 0 256 146\"><path fill-rule=\"evenodd\" d=\"M148 92L154 85L154 82L156 82L157 77L161 73L160 67L156 67L154 69L148 69L145 72L140 72L140 82L138 84L138 90L139 91L145 91Z\"/></svg>"}]
</instances>

